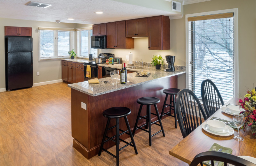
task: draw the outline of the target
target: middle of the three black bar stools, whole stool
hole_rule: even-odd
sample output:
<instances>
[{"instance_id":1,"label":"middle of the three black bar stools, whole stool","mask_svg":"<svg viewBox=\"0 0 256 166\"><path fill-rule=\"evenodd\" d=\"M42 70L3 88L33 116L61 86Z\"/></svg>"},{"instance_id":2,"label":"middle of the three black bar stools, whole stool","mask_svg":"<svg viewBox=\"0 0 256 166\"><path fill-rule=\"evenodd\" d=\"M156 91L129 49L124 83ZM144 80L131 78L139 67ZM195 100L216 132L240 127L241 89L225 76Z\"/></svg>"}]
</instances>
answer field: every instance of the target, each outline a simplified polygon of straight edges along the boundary
<instances>
[{"instance_id":1,"label":"middle of the three black bar stools, whole stool","mask_svg":"<svg viewBox=\"0 0 256 166\"><path fill-rule=\"evenodd\" d=\"M161 118L159 116L159 112L158 112L158 109L156 107L156 103L159 103L160 99L158 99L157 97L141 97L137 100L137 102L140 104L140 109L139 109L139 113L138 113L138 116L137 116L137 119L136 119L136 122L135 122L135 126L134 126L134 130L133 130L132 135L134 136L135 131L138 130L138 129L141 129L145 132L148 132L148 134L149 134L149 146L151 146L151 137L155 136L159 132L163 132L163 136L165 137L163 125L162 125L162 122L161 122ZM150 112L150 105L153 105L153 104L154 104L155 109L156 109L156 114L153 114L153 113ZM143 105L147 105L147 115L144 116L144 117L140 116L140 112L141 112L141 109L142 109ZM156 120L155 122L151 122L150 114L156 115L158 117L158 120ZM146 124L143 124L142 126L139 127L139 126L137 126L137 124L138 124L138 121L142 118L146 119ZM159 124L156 123L158 121L159 121ZM151 124L156 124L156 125L160 126L161 130L156 132L155 134L151 135ZM146 129L148 129L148 130L145 130L145 129L142 128L145 125L146 125Z\"/></svg>"}]
</instances>

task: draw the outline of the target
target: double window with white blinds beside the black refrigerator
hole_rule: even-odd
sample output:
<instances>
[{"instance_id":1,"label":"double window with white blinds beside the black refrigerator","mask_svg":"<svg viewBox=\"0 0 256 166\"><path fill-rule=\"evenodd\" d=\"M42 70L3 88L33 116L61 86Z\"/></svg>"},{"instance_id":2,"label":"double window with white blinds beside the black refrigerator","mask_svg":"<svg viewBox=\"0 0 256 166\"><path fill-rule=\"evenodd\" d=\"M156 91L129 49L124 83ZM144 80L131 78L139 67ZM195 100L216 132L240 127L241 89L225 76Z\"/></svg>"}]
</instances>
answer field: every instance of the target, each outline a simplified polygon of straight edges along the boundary
<instances>
[{"instance_id":1,"label":"double window with white blinds beside the black refrigerator","mask_svg":"<svg viewBox=\"0 0 256 166\"><path fill-rule=\"evenodd\" d=\"M39 60L70 57L68 51L75 49L75 31L38 27Z\"/></svg>"}]
</instances>

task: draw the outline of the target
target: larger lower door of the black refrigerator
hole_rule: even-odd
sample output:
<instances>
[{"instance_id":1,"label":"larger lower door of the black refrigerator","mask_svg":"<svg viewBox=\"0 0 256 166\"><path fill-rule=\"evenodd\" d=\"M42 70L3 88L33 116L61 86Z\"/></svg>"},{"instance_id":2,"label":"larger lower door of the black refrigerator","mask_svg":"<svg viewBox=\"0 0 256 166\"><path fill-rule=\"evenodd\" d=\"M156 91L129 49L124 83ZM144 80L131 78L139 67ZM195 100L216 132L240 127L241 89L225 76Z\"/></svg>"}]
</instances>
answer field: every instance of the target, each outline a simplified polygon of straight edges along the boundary
<instances>
[{"instance_id":1,"label":"larger lower door of the black refrigerator","mask_svg":"<svg viewBox=\"0 0 256 166\"><path fill-rule=\"evenodd\" d=\"M7 90L32 87L31 52L9 52L7 74Z\"/></svg>"}]
</instances>

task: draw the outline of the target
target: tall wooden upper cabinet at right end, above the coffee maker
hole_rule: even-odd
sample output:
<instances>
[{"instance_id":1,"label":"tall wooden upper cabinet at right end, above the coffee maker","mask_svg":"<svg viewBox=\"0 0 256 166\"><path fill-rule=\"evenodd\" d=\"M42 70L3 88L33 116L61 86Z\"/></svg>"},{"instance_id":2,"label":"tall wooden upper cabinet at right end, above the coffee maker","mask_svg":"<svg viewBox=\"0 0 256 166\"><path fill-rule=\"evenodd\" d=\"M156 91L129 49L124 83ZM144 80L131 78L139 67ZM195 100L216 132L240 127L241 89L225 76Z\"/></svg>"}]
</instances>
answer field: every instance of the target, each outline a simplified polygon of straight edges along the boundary
<instances>
[{"instance_id":1,"label":"tall wooden upper cabinet at right end, above the coffee maker","mask_svg":"<svg viewBox=\"0 0 256 166\"><path fill-rule=\"evenodd\" d=\"M156 16L148 18L148 49L171 49L170 19L168 16Z\"/></svg>"}]
</instances>

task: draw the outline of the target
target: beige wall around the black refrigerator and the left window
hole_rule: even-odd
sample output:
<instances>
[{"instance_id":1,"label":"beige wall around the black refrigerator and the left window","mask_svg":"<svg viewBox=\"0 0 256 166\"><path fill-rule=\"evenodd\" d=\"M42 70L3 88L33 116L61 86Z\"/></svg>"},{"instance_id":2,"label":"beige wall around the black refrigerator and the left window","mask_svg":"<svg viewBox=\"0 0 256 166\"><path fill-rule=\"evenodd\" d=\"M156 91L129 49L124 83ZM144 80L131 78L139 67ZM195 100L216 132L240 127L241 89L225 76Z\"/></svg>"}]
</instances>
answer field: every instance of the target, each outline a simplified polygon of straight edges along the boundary
<instances>
[{"instance_id":1,"label":"beige wall around the black refrigerator and the left window","mask_svg":"<svg viewBox=\"0 0 256 166\"><path fill-rule=\"evenodd\" d=\"M34 83L39 83L61 79L61 61L60 59L38 61L38 26L76 28L76 26L79 25L80 24L0 18L0 88L5 88L4 26L32 27L33 79ZM87 26L87 24L83 24L83 26ZM36 72L40 72L40 75L36 76Z\"/></svg>"}]
</instances>

